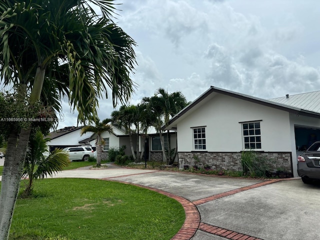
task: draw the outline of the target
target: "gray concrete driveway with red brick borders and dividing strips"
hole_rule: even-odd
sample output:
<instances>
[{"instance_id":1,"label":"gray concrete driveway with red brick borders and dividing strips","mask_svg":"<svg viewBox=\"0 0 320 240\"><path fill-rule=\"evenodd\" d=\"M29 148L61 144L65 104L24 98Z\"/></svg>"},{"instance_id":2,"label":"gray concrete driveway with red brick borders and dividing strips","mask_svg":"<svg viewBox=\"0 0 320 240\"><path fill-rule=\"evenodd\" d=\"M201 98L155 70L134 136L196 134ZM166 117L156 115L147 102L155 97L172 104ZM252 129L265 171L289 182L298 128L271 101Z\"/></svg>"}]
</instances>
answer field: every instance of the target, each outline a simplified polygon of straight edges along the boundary
<instances>
[{"instance_id":1,"label":"gray concrete driveway with red brick borders and dividing strips","mask_svg":"<svg viewBox=\"0 0 320 240\"><path fill-rule=\"evenodd\" d=\"M186 220L172 239L301 240L320 234L320 186L299 178L243 179L111 165L62 171L55 177L127 182L177 199Z\"/></svg>"}]
</instances>

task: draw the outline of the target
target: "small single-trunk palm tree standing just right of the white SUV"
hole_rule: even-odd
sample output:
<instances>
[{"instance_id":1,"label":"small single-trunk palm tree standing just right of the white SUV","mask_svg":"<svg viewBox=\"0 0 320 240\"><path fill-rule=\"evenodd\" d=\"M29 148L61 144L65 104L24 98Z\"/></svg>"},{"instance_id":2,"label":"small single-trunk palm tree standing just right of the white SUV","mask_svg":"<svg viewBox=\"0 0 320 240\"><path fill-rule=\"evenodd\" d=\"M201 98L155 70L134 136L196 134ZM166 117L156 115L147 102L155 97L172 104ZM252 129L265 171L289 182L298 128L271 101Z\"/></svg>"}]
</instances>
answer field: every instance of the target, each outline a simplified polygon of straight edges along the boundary
<instances>
[{"instance_id":1,"label":"small single-trunk palm tree standing just right of the white SUV","mask_svg":"<svg viewBox=\"0 0 320 240\"><path fill-rule=\"evenodd\" d=\"M101 134L105 131L109 132L110 134L113 133L112 126L111 124L108 124L111 119L106 118L102 121L98 117L94 119L94 126L84 126L81 129L81 135L83 135L86 132L93 132L96 134L96 141L95 141L95 146L96 146L96 166L101 165L101 151L102 151L102 139L101 139Z\"/></svg>"}]
</instances>

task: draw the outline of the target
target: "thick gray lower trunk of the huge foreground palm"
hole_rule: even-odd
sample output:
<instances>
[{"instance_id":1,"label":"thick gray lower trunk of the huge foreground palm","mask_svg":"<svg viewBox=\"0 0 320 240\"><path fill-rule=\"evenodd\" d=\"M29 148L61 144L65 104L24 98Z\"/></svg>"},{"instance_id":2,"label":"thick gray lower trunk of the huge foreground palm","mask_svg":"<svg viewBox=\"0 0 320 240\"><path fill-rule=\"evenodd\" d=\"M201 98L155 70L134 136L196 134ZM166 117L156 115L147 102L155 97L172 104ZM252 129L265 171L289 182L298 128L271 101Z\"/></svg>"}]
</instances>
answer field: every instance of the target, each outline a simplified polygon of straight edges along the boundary
<instances>
[{"instance_id":1,"label":"thick gray lower trunk of the huge foreground palm","mask_svg":"<svg viewBox=\"0 0 320 240\"><path fill-rule=\"evenodd\" d=\"M3 165L0 194L0 239L9 238L13 209L19 192L22 167L30 128L21 129L19 138L11 133L8 137L7 154Z\"/></svg>"}]
</instances>

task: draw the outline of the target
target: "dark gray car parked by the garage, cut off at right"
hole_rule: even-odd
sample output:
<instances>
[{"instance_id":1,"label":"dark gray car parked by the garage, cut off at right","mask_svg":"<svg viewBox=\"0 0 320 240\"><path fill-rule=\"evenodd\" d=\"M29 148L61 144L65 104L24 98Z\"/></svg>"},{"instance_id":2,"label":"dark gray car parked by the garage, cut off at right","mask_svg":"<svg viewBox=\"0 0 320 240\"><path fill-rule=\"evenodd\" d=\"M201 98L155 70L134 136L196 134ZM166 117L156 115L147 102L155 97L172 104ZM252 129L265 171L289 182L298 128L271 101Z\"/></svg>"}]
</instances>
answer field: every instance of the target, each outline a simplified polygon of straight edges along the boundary
<instances>
[{"instance_id":1,"label":"dark gray car parked by the garage, cut off at right","mask_svg":"<svg viewBox=\"0 0 320 240\"><path fill-rule=\"evenodd\" d=\"M320 180L320 141L298 156L298 175L304 183Z\"/></svg>"}]
</instances>

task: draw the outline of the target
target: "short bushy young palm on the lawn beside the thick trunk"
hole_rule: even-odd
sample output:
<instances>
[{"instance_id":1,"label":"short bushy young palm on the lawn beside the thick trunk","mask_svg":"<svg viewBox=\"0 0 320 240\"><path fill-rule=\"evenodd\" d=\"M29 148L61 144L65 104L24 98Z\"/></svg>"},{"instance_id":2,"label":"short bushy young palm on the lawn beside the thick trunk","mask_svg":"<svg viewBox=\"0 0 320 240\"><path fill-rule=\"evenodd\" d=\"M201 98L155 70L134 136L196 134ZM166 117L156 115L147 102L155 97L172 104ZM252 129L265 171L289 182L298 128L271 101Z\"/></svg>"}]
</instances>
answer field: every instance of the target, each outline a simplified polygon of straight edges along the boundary
<instances>
[{"instance_id":1,"label":"short bushy young palm on the lawn beside the thick trunk","mask_svg":"<svg viewBox=\"0 0 320 240\"><path fill-rule=\"evenodd\" d=\"M49 138L44 138L39 129L30 137L22 173L22 177L28 177L24 196L31 193L34 179L52 176L54 172L63 170L69 164L67 153L58 148L49 152L47 141Z\"/></svg>"}]
</instances>

